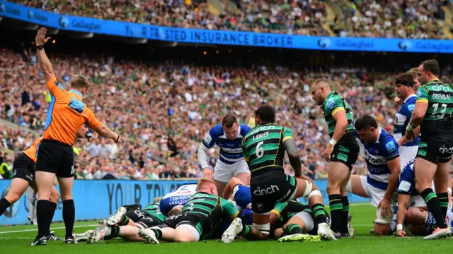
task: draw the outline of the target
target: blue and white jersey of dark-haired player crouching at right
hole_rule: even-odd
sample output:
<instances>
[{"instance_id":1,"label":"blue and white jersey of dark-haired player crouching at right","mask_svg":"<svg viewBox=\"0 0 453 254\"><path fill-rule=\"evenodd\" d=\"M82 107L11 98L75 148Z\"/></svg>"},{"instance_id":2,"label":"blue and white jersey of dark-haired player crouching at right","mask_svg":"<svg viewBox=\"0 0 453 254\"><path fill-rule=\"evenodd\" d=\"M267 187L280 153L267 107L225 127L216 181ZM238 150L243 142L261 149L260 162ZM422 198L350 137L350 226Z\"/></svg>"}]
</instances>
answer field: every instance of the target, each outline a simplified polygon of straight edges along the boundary
<instances>
[{"instance_id":1,"label":"blue and white jersey of dark-haired player crouching at right","mask_svg":"<svg viewBox=\"0 0 453 254\"><path fill-rule=\"evenodd\" d=\"M356 131L355 134L359 138ZM377 136L376 142L365 143L360 140L360 143L364 147L365 161L367 162L369 172L367 183L374 188L386 190L391 173L387 162L399 157L398 143L396 143L394 137L382 128L379 128L379 135Z\"/></svg>"}]
</instances>

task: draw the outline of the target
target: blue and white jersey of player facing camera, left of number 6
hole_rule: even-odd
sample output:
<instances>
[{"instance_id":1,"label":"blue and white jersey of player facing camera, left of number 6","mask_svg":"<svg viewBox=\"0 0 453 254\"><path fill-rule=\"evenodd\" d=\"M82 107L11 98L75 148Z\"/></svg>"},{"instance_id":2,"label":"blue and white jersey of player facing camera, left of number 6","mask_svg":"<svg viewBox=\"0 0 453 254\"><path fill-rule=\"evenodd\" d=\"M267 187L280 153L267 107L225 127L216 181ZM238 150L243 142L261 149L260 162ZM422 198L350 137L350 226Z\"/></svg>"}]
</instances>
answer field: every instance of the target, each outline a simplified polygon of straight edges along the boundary
<instances>
[{"instance_id":1,"label":"blue and white jersey of player facing camera, left of number 6","mask_svg":"<svg viewBox=\"0 0 453 254\"><path fill-rule=\"evenodd\" d=\"M239 126L238 135L235 140L226 138L222 124L214 126L210 133L203 138L202 143L208 149L217 145L220 147L219 161L224 164L234 164L243 160L242 154L242 139L251 131L251 128L241 124Z\"/></svg>"}]
</instances>

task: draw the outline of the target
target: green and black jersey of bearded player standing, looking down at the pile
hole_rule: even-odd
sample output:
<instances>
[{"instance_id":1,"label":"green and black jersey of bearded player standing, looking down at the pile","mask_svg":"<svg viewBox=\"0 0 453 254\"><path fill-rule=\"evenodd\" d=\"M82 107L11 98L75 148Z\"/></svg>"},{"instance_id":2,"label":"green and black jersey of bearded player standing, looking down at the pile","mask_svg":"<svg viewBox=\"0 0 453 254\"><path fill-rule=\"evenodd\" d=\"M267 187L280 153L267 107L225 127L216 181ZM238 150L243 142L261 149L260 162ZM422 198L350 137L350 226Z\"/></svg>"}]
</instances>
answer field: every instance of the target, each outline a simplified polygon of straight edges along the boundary
<instances>
[{"instance_id":1,"label":"green and black jersey of bearded player standing, looking down at the pile","mask_svg":"<svg viewBox=\"0 0 453 254\"><path fill-rule=\"evenodd\" d=\"M337 114L338 111L346 111L346 118L348 119L346 132L354 131L354 116L352 114L352 108L349 106L348 102L345 102L345 99L343 99L341 95L338 95L337 92L332 91L327 95L323 104L323 110L324 119L326 119L326 123L328 125L328 135L330 135L331 138L336 126L336 121L333 119L333 116Z\"/></svg>"}]
</instances>

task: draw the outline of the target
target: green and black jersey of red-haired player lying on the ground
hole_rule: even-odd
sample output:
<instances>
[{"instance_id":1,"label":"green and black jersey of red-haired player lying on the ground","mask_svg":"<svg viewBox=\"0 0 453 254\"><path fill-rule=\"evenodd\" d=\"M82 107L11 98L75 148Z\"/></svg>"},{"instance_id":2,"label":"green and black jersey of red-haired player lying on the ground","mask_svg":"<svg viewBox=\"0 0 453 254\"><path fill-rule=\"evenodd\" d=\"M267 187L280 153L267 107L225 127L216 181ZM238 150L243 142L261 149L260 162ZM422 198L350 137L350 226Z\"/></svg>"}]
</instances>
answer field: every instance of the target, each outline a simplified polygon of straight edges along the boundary
<instances>
[{"instance_id":1,"label":"green and black jersey of red-haired player lying on the ground","mask_svg":"<svg viewBox=\"0 0 453 254\"><path fill-rule=\"evenodd\" d=\"M222 217L233 220L239 214L239 210L228 200L217 195L198 192L190 198L183 207L183 214L201 214L209 217L212 226L217 225Z\"/></svg>"}]
</instances>

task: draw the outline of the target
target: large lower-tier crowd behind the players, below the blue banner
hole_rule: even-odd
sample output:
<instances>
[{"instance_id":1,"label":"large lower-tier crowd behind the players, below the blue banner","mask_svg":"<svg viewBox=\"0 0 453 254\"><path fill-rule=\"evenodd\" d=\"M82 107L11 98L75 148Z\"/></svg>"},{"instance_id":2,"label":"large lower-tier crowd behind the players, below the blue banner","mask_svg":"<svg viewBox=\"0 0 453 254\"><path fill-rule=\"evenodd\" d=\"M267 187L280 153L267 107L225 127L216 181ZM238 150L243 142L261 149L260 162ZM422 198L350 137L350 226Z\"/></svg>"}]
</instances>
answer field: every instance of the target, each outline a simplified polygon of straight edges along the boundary
<instances>
[{"instance_id":1,"label":"large lower-tier crowd behind the players, below the blue banner","mask_svg":"<svg viewBox=\"0 0 453 254\"><path fill-rule=\"evenodd\" d=\"M20 151L42 132L50 98L33 54L0 49L0 59L0 115L27 127L2 127L0 146ZM355 109L355 117L370 114L387 131L393 128L392 73L367 73L365 68L307 72L285 66L200 67L173 61L147 65L94 55L52 55L50 61L65 85L74 73L90 77L85 103L100 121L130 140L118 146L91 132L77 141L75 166L83 179L200 176L197 147L210 128L228 113L253 127L253 111L263 103L276 107L277 123L292 128L306 170L324 178L321 152L328 143L327 128L309 92L317 78L328 78ZM441 80L452 83L451 71L447 66ZM30 129L38 134L30 134ZM211 149L209 156L213 166L218 153ZM355 171L366 174L363 159L356 166ZM285 167L292 170L289 164Z\"/></svg>"}]
</instances>

